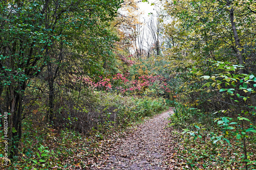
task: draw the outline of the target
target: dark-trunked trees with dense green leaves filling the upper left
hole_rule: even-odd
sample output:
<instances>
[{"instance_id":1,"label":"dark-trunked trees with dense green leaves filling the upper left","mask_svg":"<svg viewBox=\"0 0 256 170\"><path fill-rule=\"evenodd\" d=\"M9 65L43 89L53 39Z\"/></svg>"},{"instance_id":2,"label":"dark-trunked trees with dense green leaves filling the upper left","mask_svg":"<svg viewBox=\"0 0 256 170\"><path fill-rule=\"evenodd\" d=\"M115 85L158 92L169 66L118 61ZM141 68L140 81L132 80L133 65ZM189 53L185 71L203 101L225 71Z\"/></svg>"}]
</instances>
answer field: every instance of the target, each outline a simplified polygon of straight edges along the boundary
<instances>
[{"instance_id":1,"label":"dark-trunked trees with dense green leaves filling the upper left","mask_svg":"<svg viewBox=\"0 0 256 170\"><path fill-rule=\"evenodd\" d=\"M58 71L69 70L71 60L80 63L79 71L94 75L102 74L104 69L91 67L112 65L106 60L113 58L113 44L118 39L109 22L116 16L121 2L0 2L0 98L6 101L1 104L1 111L11 113L8 118L11 158L17 155L22 137L24 102L28 102L23 99L31 99L30 95L25 96L26 90L32 81L38 80L38 75L48 83L50 95L46 110L52 124ZM44 85L45 82L34 88Z\"/></svg>"}]
</instances>

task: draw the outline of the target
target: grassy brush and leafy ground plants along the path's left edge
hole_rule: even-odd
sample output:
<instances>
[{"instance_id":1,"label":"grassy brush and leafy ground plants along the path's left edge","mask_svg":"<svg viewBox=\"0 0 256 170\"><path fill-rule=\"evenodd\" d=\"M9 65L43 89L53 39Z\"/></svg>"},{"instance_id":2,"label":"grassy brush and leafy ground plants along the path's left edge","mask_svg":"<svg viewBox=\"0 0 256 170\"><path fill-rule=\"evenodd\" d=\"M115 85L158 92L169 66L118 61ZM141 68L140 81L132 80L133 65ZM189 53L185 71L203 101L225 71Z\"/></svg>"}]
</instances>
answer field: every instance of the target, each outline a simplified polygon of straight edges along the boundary
<instances>
[{"instance_id":1,"label":"grassy brush and leafy ground plants along the path's left edge","mask_svg":"<svg viewBox=\"0 0 256 170\"><path fill-rule=\"evenodd\" d=\"M59 113L55 114L58 119L54 120L54 125L65 124L63 129L32 122L33 115L24 120L20 155L12 168L66 168L70 165L66 159L72 160L72 166L75 166L82 162L79 155L75 155L78 150L78 153L81 151L90 157L96 154L96 151L91 149L106 136L168 108L162 98L140 99L111 92L91 92L87 89L83 89L80 95L78 107L74 108L74 112L68 105L63 104ZM72 98L77 97L78 92L73 91ZM91 141L92 139L95 141ZM79 166L86 167L87 164L81 163Z\"/></svg>"}]
</instances>

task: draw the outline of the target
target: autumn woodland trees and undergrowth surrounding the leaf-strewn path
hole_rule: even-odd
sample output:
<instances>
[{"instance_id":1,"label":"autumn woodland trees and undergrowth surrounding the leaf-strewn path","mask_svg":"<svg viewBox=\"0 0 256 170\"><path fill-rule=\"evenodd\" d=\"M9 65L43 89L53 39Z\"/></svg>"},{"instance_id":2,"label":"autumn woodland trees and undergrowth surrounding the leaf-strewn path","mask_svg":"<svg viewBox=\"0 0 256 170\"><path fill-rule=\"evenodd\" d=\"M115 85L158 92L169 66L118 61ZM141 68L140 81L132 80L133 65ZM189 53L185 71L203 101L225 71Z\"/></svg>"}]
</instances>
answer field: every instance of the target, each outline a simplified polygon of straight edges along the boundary
<instances>
[{"instance_id":1,"label":"autumn woodland trees and undergrowth surrounding the leaf-strewn path","mask_svg":"<svg viewBox=\"0 0 256 170\"><path fill-rule=\"evenodd\" d=\"M135 0L0 2L0 167L87 169L174 107L182 169L256 169L256 2L152 5L141 22Z\"/></svg>"}]
</instances>

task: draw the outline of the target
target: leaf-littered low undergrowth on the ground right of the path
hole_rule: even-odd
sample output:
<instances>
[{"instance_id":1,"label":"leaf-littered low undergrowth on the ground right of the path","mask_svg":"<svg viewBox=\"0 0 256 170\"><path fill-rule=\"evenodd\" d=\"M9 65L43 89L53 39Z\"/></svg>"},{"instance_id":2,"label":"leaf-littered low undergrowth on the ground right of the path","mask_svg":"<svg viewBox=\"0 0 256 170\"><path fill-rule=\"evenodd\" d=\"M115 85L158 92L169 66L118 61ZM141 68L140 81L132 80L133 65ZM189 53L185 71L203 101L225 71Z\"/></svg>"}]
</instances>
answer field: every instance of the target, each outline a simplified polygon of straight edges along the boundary
<instances>
[{"instance_id":1,"label":"leaf-littered low undergrowth on the ground right of the path","mask_svg":"<svg viewBox=\"0 0 256 170\"><path fill-rule=\"evenodd\" d=\"M202 113L197 108L175 103L169 126L176 129L173 131L178 142L175 147L177 154L173 156L176 166L182 169L246 169L247 164L247 169L255 169L255 135L248 133L245 136L246 158L243 138L233 137L238 132L233 130L236 124L231 126L230 123L228 131L220 126L222 120L217 115Z\"/></svg>"}]
</instances>

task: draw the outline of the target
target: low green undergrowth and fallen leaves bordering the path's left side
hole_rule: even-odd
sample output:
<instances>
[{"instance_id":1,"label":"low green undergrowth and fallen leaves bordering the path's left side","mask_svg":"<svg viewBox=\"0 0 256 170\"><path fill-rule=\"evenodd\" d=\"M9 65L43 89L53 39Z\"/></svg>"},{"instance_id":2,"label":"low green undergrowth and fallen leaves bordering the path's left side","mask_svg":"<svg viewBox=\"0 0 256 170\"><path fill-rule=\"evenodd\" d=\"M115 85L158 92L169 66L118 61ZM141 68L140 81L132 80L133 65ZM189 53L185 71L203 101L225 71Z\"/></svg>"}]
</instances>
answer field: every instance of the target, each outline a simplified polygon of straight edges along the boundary
<instances>
[{"instance_id":1,"label":"low green undergrowth and fallen leaves bordering the path's left side","mask_svg":"<svg viewBox=\"0 0 256 170\"><path fill-rule=\"evenodd\" d=\"M102 141L109 141L109 135L139 122L147 116L153 116L167 109L162 98L137 98L136 96L122 96L108 92L94 92L91 108L84 109L84 114L92 122L86 133L79 133L72 129L76 120L70 120L66 128L49 125L33 124L28 119L24 121L23 137L20 141L19 155L13 160L12 166L6 169L76 169L91 166L90 159L101 154L99 145ZM90 111L98 109L97 114ZM65 118L65 116L63 117ZM79 120L77 120L79 122ZM81 120L79 124L82 124ZM84 125L89 125L84 123ZM82 126L82 125L80 125ZM112 139L110 139L112 140ZM108 152L108 146L105 146ZM100 147L101 148L101 147Z\"/></svg>"}]
</instances>

